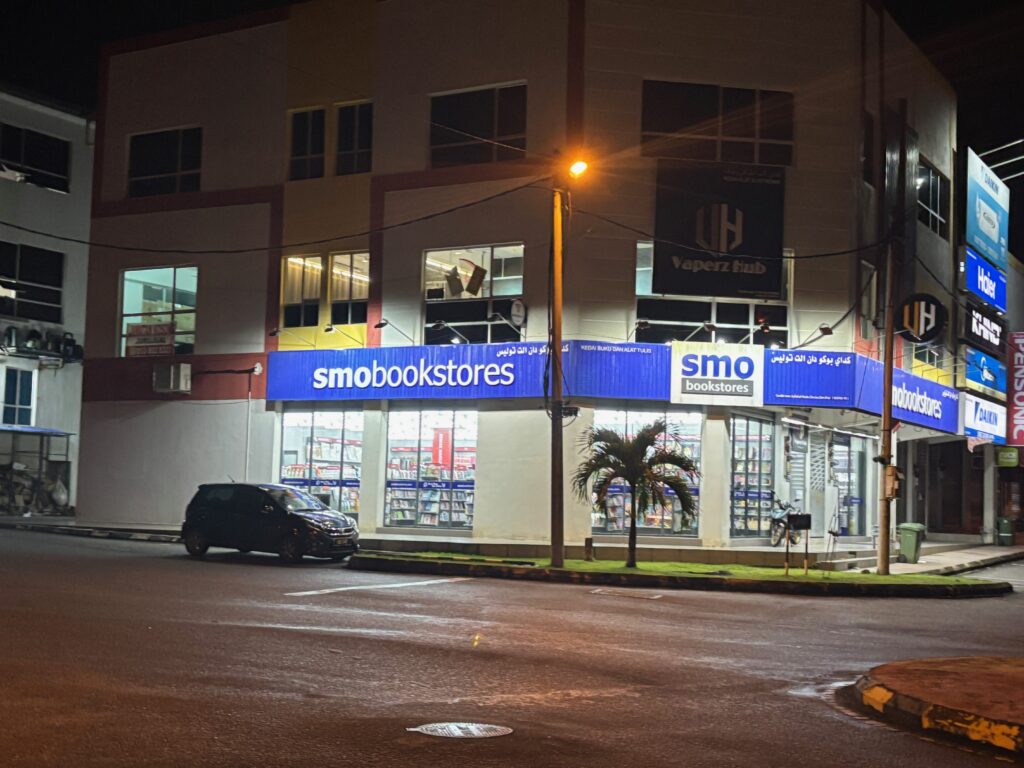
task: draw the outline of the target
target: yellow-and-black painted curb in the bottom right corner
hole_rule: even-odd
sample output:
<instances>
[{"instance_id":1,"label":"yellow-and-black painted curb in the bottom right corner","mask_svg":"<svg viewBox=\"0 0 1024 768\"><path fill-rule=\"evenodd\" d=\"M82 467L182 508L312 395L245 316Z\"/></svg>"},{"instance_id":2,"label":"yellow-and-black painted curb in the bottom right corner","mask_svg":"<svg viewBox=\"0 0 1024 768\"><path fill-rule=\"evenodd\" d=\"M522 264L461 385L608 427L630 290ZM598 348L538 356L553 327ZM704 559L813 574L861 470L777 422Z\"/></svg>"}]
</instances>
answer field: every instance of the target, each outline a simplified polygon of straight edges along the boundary
<instances>
[{"instance_id":1,"label":"yellow-and-black painted curb in the bottom right corner","mask_svg":"<svg viewBox=\"0 0 1024 768\"><path fill-rule=\"evenodd\" d=\"M1024 754L1024 724L992 720L966 710L954 710L908 696L882 685L867 673L846 690L851 703L872 717L918 730L985 743Z\"/></svg>"}]
</instances>

